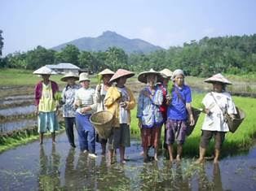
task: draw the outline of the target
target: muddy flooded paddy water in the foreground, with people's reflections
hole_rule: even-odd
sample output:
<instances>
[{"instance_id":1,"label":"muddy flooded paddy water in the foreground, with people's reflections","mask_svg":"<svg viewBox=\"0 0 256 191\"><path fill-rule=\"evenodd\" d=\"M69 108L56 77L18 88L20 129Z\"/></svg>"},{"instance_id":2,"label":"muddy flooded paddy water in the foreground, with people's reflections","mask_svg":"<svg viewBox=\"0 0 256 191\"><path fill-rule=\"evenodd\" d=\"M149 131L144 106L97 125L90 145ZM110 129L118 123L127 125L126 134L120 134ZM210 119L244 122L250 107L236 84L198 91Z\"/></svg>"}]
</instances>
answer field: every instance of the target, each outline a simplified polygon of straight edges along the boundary
<instances>
[{"instance_id":1,"label":"muddy flooded paddy water in the foreground, with people's reflections","mask_svg":"<svg viewBox=\"0 0 256 191\"><path fill-rule=\"evenodd\" d=\"M77 137L77 135L76 135ZM255 190L256 147L248 154L224 158L219 165L193 165L191 158L170 165L163 157L143 163L140 143L132 141L125 165L108 165L70 149L65 134L52 145L46 139L0 154L0 190Z\"/></svg>"}]
</instances>

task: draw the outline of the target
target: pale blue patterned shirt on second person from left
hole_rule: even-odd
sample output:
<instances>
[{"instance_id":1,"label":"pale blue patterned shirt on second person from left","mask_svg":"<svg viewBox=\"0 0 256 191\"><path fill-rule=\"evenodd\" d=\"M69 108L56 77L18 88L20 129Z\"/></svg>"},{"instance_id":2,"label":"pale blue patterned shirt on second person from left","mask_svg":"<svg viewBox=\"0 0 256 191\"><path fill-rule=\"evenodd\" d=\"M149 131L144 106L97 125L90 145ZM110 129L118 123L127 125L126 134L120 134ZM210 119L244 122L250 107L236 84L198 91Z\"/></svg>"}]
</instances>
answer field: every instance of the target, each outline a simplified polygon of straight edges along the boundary
<instances>
[{"instance_id":1,"label":"pale blue patterned shirt on second person from left","mask_svg":"<svg viewBox=\"0 0 256 191\"><path fill-rule=\"evenodd\" d=\"M64 117L75 117L76 115L76 109L74 107L75 102L75 95L77 92L77 89L79 89L80 85L67 85L62 90L62 102L64 102L63 105L63 116Z\"/></svg>"}]
</instances>

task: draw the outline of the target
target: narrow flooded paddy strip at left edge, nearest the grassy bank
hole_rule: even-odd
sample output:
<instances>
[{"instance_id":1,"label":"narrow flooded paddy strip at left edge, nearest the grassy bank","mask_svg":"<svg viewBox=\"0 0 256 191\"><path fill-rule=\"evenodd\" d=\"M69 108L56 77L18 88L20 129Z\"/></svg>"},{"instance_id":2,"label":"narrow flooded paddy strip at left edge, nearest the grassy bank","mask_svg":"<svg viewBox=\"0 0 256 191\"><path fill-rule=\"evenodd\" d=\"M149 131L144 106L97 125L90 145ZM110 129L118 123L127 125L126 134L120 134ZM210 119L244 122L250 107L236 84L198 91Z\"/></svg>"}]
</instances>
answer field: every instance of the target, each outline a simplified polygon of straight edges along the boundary
<instances>
[{"instance_id":1,"label":"narrow flooded paddy strip at left edge, nearest the grassy bank","mask_svg":"<svg viewBox=\"0 0 256 191\"><path fill-rule=\"evenodd\" d=\"M22 128L34 127L37 125L36 119L22 119L7 123L0 124L0 134L5 132L11 132L13 130L20 130Z\"/></svg>"}]
</instances>

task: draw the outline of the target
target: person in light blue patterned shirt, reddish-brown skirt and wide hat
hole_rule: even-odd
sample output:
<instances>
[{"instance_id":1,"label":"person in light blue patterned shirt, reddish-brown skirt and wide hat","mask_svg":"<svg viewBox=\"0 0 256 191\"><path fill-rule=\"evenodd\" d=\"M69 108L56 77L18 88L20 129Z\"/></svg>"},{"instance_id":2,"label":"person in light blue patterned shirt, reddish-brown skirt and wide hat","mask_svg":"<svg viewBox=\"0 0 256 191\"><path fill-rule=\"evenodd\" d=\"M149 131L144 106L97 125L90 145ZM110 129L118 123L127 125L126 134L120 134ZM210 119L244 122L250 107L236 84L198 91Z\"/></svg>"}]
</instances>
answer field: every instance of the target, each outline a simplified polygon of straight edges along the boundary
<instances>
[{"instance_id":1,"label":"person in light blue patterned shirt, reddish-brown skirt and wide hat","mask_svg":"<svg viewBox=\"0 0 256 191\"><path fill-rule=\"evenodd\" d=\"M139 93L137 108L137 118L139 119L139 128L141 128L143 162L148 162L148 148L154 146L154 159L157 161L157 150L159 134L163 117L160 106L163 102L163 93L156 86L157 77L160 78L160 72L151 69L148 72L139 73L138 80L143 82L146 87Z\"/></svg>"}]
</instances>

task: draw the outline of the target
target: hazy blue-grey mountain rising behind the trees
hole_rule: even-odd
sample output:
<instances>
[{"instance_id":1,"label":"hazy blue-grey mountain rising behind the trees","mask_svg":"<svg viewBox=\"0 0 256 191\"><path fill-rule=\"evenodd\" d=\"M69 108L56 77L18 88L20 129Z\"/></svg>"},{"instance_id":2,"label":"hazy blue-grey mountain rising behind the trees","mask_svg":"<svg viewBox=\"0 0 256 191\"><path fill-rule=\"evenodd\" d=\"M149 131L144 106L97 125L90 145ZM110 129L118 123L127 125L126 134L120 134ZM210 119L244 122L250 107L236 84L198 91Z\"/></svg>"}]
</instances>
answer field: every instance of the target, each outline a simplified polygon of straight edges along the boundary
<instances>
[{"instance_id":1,"label":"hazy blue-grey mountain rising behind the trees","mask_svg":"<svg viewBox=\"0 0 256 191\"><path fill-rule=\"evenodd\" d=\"M116 46L125 50L126 53L150 53L155 50L162 50L160 46L154 46L147 41L140 39L129 39L115 32L106 31L99 37L82 37L73 41L66 42L51 49L60 51L66 45L77 46L79 50L86 51L105 51L108 47Z\"/></svg>"}]
</instances>

